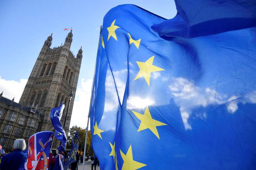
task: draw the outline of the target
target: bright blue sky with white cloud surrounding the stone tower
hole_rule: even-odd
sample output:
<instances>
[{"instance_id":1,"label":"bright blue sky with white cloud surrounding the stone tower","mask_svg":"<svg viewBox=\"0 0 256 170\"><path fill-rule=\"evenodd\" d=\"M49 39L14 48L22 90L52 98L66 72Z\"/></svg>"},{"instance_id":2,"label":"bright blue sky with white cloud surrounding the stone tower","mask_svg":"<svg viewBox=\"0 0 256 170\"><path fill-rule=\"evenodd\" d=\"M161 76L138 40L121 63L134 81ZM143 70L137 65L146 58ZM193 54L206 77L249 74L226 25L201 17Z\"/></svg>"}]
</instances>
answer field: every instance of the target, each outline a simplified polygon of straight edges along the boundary
<instances>
[{"instance_id":1,"label":"bright blue sky with white cloud surrounding the stone tower","mask_svg":"<svg viewBox=\"0 0 256 170\"><path fill-rule=\"evenodd\" d=\"M15 97L15 101L18 102L45 39L53 33L51 47L59 46L64 43L68 33L63 31L63 28L72 27L71 51L76 55L80 46L83 49L71 118L71 126L77 124L76 120L78 121L81 116L79 110L82 109L82 105L84 103L89 105L99 38L97 28L102 25L107 11L121 4L135 4L167 19L177 13L173 0L1 1L0 91L4 91L4 96L8 98ZM82 112L86 112L83 117L88 113L87 108L86 106L82 109Z\"/></svg>"}]
</instances>

